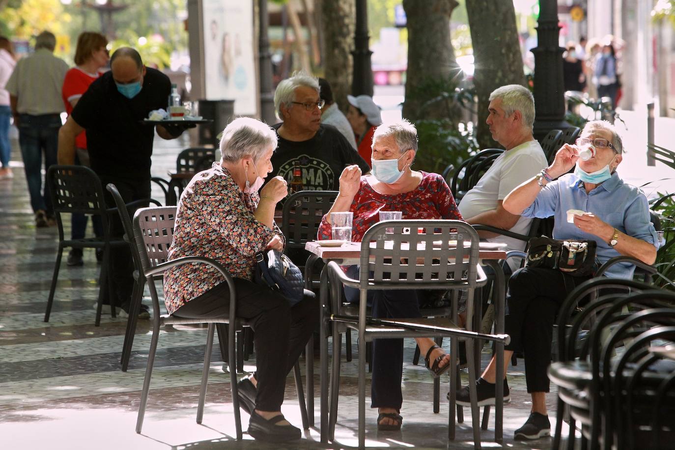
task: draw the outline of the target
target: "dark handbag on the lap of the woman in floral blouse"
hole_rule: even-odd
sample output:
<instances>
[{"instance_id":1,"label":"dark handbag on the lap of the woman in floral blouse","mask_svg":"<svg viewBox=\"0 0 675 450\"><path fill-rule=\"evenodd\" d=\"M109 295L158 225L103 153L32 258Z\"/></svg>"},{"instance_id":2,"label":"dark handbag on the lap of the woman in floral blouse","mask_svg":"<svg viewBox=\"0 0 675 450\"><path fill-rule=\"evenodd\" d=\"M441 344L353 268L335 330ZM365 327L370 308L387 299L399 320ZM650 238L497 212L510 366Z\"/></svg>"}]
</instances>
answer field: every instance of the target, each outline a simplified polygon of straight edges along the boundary
<instances>
[{"instance_id":1,"label":"dark handbag on the lap of the woman in floral blouse","mask_svg":"<svg viewBox=\"0 0 675 450\"><path fill-rule=\"evenodd\" d=\"M291 306L304 295L304 277L298 266L279 250L265 250L256 254L254 280L269 286L288 299Z\"/></svg>"}]
</instances>

